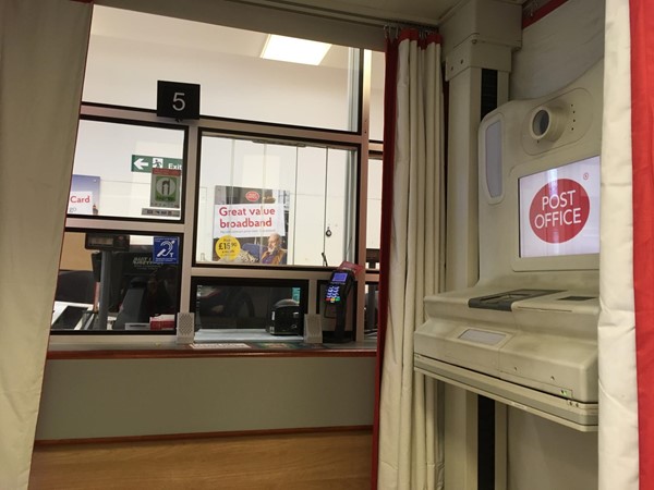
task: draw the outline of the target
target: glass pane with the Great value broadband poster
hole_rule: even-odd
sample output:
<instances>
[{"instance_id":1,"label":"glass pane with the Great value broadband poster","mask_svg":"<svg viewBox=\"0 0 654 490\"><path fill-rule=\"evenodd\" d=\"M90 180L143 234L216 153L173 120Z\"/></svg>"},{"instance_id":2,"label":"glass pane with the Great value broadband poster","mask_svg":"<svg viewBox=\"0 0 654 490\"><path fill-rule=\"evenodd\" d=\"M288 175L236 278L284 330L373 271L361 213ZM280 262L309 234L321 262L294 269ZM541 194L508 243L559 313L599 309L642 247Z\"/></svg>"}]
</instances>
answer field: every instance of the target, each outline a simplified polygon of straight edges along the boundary
<instances>
[{"instance_id":1,"label":"glass pane with the Great value broadband poster","mask_svg":"<svg viewBox=\"0 0 654 490\"><path fill-rule=\"evenodd\" d=\"M205 134L196 261L324 266L353 258L354 149Z\"/></svg>"}]
</instances>

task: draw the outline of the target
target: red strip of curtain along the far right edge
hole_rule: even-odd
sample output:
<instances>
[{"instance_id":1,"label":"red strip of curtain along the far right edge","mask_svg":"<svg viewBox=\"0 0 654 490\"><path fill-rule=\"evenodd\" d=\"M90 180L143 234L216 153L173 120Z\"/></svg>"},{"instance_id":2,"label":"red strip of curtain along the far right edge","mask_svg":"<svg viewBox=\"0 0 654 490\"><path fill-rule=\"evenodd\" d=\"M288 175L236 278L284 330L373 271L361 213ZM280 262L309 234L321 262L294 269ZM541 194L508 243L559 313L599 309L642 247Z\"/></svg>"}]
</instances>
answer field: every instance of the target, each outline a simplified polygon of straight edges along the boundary
<instances>
[{"instance_id":1,"label":"red strip of curtain along the far right edge","mask_svg":"<svg viewBox=\"0 0 654 490\"><path fill-rule=\"evenodd\" d=\"M633 293L640 488L654 489L654 4L630 1Z\"/></svg>"}]
</instances>

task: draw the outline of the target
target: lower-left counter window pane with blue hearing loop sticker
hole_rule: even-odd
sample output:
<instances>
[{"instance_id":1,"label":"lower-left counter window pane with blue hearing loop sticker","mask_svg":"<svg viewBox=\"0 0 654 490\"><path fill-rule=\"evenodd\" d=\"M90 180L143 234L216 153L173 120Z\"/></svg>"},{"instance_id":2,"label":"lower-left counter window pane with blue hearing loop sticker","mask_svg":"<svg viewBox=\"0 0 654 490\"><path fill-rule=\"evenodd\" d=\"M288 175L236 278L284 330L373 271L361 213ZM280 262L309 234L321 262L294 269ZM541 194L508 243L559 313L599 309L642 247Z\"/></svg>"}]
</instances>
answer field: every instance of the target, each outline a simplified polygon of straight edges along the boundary
<instances>
[{"instance_id":1,"label":"lower-left counter window pane with blue hearing loop sticker","mask_svg":"<svg viewBox=\"0 0 654 490\"><path fill-rule=\"evenodd\" d=\"M181 238L66 232L51 330L173 333Z\"/></svg>"}]
</instances>

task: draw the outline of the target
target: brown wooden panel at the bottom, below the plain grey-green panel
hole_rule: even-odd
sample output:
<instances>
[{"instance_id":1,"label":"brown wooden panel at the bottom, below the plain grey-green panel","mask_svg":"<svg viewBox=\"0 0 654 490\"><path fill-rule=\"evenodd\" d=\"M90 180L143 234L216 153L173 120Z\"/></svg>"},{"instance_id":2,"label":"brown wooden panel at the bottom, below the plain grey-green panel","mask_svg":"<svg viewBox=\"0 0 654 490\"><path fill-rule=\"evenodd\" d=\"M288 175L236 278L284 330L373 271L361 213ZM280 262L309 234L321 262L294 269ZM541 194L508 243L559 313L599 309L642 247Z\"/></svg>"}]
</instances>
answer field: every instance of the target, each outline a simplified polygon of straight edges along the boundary
<instances>
[{"instance_id":1,"label":"brown wooden panel at the bottom, below the plain grey-green panel","mask_svg":"<svg viewBox=\"0 0 654 490\"><path fill-rule=\"evenodd\" d=\"M29 490L371 488L372 431L36 445Z\"/></svg>"}]
</instances>

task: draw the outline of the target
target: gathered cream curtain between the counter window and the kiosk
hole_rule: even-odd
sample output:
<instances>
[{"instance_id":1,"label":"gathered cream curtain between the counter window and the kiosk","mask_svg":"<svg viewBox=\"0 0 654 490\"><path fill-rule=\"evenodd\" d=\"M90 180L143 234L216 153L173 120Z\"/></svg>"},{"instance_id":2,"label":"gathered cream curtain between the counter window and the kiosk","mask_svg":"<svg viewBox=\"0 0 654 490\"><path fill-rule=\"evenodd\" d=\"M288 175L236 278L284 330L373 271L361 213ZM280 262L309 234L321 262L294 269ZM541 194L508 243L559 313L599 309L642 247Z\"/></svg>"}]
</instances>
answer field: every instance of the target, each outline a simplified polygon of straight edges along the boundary
<instances>
[{"instance_id":1,"label":"gathered cream curtain between the counter window and the kiosk","mask_svg":"<svg viewBox=\"0 0 654 490\"><path fill-rule=\"evenodd\" d=\"M392 169L384 169L392 171L393 192L391 216L383 218L391 219L391 231L389 262L383 265L389 285L377 477L384 490L435 489L443 481L436 382L413 371L413 332L424 322L424 296L437 293L440 280L440 45L436 36L409 30L397 49L395 159Z\"/></svg>"}]
</instances>

